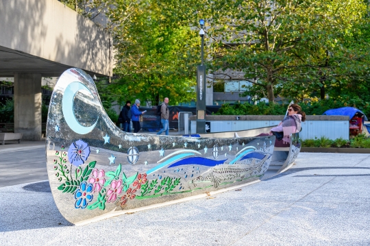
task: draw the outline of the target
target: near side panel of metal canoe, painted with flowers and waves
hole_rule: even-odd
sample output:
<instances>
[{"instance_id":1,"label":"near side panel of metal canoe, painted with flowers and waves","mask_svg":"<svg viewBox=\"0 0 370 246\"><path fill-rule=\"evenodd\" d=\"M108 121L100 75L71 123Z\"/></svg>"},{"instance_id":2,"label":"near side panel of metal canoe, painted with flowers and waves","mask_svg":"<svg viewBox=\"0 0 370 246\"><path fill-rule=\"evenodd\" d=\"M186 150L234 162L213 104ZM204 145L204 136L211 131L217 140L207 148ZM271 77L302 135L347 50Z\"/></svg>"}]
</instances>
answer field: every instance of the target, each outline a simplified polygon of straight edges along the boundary
<instances>
[{"instance_id":1,"label":"near side panel of metal canoe, painted with flowers and waves","mask_svg":"<svg viewBox=\"0 0 370 246\"><path fill-rule=\"evenodd\" d=\"M274 136L123 132L103 110L93 79L69 69L49 105L47 172L58 209L81 223L258 180L269 168L274 143Z\"/></svg>"}]
</instances>

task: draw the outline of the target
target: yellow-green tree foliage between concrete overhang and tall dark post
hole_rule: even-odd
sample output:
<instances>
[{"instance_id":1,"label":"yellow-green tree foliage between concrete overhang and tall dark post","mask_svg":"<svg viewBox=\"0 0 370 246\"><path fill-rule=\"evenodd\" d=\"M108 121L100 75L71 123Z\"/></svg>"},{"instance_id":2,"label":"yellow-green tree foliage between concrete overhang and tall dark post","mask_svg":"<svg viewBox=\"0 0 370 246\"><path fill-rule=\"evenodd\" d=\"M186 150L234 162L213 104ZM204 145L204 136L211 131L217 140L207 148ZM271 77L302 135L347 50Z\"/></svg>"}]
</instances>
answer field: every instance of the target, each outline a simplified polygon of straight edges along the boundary
<instances>
[{"instance_id":1,"label":"yellow-green tree foliage between concrete overhang and tall dark post","mask_svg":"<svg viewBox=\"0 0 370 246\"><path fill-rule=\"evenodd\" d=\"M120 0L109 7L117 76L110 87L126 98L140 98L152 105L164 97L171 103L195 98L200 38L188 23L169 16L165 7L169 5L156 0Z\"/></svg>"}]
</instances>

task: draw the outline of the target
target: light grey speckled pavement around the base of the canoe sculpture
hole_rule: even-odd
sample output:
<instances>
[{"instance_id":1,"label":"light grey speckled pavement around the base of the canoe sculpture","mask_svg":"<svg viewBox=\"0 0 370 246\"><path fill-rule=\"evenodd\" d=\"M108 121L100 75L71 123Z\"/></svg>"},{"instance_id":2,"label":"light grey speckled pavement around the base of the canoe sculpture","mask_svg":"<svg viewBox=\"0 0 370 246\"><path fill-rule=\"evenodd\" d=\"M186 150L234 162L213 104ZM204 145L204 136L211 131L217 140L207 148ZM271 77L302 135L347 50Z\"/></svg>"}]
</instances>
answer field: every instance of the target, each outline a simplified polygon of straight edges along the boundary
<instances>
[{"instance_id":1,"label":"light grey speckled pavement around the base of the canoe sculpture","mask_svg":"<svg viewBox=\"0 0 370 246\"><path fill-rule=\"evenodd\" d=\"M0 173L12 173L5 158L46 175L34 163L42 147L2 150ZM1 245L370 245L370 154L299 153L292 169L241 190L78 227L46 181L0 184Z\"/></svg>"}]
</instances>

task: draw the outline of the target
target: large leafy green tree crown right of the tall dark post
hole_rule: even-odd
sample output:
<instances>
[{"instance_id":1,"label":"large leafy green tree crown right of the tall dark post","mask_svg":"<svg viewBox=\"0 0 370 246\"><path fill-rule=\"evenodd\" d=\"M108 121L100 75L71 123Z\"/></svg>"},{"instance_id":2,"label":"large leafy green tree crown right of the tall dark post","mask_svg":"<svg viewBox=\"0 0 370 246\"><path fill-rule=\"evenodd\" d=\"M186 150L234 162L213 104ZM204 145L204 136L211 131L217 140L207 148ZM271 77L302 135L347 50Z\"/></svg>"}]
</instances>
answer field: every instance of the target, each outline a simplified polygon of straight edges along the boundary
<instances>
[{"instance_id":1,"label":"large leafy green tree crown right of the tall dark post","mask_svg":"<svg viewBox=\"0 0 370 246\"><path fill-rule=\"evenodd\" d=\"M243 72L254 93L273 103L286 85L289 95L301 94L308 82L325 86L338 72L330 52L340 47L338 37L346 38L366 6L359 0L219 0L212 9L212 71Z\"/></svg>"}]
</instances>

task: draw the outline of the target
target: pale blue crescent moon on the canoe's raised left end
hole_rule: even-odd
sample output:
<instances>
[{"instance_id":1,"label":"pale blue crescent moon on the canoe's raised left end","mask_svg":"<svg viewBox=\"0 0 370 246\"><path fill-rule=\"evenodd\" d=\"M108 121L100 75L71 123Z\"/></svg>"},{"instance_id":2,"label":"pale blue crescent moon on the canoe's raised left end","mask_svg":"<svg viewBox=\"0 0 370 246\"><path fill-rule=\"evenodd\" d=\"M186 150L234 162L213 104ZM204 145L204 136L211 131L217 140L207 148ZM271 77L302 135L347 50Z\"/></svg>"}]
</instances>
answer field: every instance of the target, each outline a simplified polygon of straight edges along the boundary
<instances>
[{"instance_id":1,"label":"pale blue crescent moon on the canoe's raised left end","mask_svg":"<svg viewBox=\"0 0 370 246\"><path fill-rule=\"evenodd\" d=\"M93 125L86 127L84 125L81 125L75 118L75 114L73 113L73 99L75 98L75 95L79 92L79 90L86 90L90 95L93 96L93 93L91 93L91 91L86 86L84 86L84 84L81 84L79 82L72 82L71 84L66 86L66 89L64 90L64 95L62 99L62 110L64 119L66 120L66 123L69 125L71 130L73 130L73 132L77 134L84 135L88 134L95 128L95 125L97 125L97 121L95 121Z\"/></svg>"}]
</instances>

